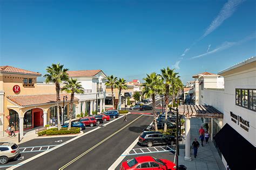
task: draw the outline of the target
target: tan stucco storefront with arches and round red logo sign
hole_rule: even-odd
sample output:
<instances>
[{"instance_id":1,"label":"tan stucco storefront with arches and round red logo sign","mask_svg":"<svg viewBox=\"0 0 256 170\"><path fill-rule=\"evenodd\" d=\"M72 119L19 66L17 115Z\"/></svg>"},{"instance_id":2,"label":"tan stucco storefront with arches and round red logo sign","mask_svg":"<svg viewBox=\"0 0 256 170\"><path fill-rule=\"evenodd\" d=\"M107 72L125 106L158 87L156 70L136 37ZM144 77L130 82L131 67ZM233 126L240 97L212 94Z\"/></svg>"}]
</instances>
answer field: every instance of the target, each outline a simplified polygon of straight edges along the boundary
<instances>
[{"instance_id":1,"label":"tan stucco storefront with arches and round red logo sign","mask_svg":"<svg viewBox=\"0 0 256 170\"><path fill-rule=\"evenodd\" d=\"M55 84L37 83L38 76L41 74L37 72L0 66L0 137L6 135L8 125L14 125L23 136L23 130L46 125L50 118L57 117ZM62 116L65 120L68 119L70 95L60 94L63 103L62 98L65 98ZM72 107L75 117L77 98Z\"/></svg>"}]
</instances>

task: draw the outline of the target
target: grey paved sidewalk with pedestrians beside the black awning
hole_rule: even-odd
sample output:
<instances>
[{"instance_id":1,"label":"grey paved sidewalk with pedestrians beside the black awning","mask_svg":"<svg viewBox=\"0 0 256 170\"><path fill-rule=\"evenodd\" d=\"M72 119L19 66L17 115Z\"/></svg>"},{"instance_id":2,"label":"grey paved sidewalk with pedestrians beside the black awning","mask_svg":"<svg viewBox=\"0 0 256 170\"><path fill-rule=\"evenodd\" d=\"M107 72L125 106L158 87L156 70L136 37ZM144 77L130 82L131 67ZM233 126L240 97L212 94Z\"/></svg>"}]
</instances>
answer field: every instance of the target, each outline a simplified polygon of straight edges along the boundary
<instances>
[{"instance_id":1,"label":"grey paved sidewalk with pedestrians beside the black awning","mask_svg":"<svg viewBox=\"0 0 256 170\"><path fill-rule=\"evenodd\" d=\"M202 125L203 123L200 118L191 118L191 145L194 138L197 138L199 141L198 130ZM184 160L185 148L180 149L179 165L185 165L189 170L225 170L220 155L218 154L211 139L209 139L208 144L205 144L204 142L204 147L202 147L200 144L200 147L198 148L197 158L194 158L192 149L190 154L192 161L186 161Z\"/></svg>"}]
</instances>

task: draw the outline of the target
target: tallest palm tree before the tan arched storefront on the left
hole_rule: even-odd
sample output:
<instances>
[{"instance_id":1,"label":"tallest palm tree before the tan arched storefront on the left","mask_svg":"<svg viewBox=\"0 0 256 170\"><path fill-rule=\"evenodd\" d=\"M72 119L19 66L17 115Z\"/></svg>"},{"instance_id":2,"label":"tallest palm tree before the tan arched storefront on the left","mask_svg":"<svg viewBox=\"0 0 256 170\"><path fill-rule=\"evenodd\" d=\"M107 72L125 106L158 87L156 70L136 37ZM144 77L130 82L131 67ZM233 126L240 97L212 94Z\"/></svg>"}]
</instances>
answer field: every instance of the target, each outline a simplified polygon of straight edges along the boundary
<instances>
[{"instance_id":1,"label":"tallest palm tree before the tan arched storefront on the left","mask_svg":"<svg viewBox=\"0 0 256 170\"><path fill-rule=\"evenodd\" d=\"M59 63L57 64L52 64L51 66L48 66L46 68L46 72L48 74L45 74L44 77L46 77L45 82L49 83L55 83L55 89L56 89L56 101L57 101L57 122L58 122L58 130L60 130L60 117L59 117L59 91L60 91L60 83L63 81L69 80L69 75L67 71L69 69L63 68L64 65L60 65Z\"/></svg>"}]
</instances>

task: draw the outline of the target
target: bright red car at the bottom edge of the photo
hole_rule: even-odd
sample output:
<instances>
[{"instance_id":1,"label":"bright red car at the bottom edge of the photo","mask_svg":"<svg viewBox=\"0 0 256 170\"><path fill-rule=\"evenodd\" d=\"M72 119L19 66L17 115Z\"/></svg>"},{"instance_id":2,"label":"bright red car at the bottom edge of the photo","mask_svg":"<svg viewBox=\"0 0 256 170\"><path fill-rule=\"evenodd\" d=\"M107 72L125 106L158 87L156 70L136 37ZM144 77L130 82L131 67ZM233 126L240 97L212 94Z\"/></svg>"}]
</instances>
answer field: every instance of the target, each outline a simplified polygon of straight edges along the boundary
<instances>
[{"instance_id":1,"label":"bright red car at the bottom edge of the photo","mask_svg":"<svg viewBox=\"0 0 256 170\"><path fill-rule=\"evenodd\" d=\"M132 169L143 169L143 170L153 170L153 169L165 169L173 170L176 169L176 165L167 159L157 159L151 156L136 157L127 160L122 163L120 170L132 170Z\"/></svg>"}]
</instances>

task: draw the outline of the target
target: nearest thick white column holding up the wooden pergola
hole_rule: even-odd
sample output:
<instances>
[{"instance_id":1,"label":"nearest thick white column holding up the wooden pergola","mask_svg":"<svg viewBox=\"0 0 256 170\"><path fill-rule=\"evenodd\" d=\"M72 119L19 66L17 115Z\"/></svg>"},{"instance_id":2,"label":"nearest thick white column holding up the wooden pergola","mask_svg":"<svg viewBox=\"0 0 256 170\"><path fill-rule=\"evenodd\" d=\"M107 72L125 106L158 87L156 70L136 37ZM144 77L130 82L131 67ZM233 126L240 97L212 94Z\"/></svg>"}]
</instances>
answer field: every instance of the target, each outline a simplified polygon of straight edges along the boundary
<instances>
[{"instance_id":1,"label":"nearest thick white column holding up the wooden pergola","mask_svg":"<svg viewBox=\"0 0 256 170\"><path fill-rule=\"evenodd\" d=\"M191 161L190 156L190 119L191 117L185 117L185 135L186 135L186 144L185 144L185 160Z\"/></svg>"}]
</instances>

